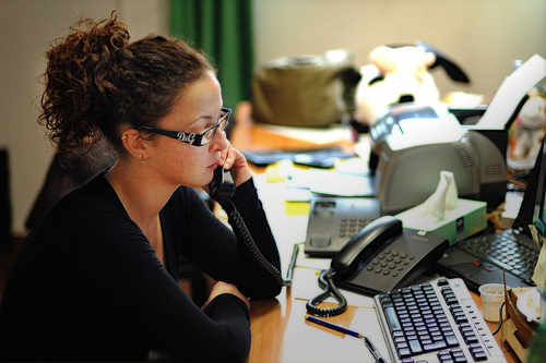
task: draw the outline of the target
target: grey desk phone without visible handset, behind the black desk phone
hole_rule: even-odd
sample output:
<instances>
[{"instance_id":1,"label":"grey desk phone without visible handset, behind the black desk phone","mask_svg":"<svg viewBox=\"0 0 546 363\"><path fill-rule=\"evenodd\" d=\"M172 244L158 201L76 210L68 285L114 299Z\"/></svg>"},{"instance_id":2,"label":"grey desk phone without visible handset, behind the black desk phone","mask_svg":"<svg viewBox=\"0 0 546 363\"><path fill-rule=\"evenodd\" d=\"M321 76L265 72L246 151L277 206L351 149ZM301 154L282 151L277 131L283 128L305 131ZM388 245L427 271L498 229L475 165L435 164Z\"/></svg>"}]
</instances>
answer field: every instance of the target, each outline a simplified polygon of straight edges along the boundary
<instances>
[{"instance_id":1,"label":"grey desk phone without visible handset, behind the black desk phone","mask_svg":"<svg viewBox=\"0 0 546 363\"><path fill-rule=\"evenodd\" d=\"M379 216L376 198L314 196L310 202L305 252L312 257L332 257L353 234Z\"/></svg>"}]
</instances>

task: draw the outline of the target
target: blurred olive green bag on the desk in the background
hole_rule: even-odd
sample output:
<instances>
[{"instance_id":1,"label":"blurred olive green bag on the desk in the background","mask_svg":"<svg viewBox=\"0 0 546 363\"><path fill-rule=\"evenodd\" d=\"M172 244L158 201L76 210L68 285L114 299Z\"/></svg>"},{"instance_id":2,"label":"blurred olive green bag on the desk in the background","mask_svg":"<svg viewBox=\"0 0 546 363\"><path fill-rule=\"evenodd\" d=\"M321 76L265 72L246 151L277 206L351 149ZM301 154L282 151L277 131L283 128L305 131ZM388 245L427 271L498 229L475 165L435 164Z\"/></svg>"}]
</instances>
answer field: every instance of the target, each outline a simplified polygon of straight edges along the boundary
<instances>
[{"instance_id":1,"label":"blurred olive green bag on the desk in the background","mask_svg":"<svg viewBox=\"0 0 546 363\"><path fill-rule=\"evenodd\" d=\"M360 75L344 50L281 58L254 72L252 118L287 126L327 126L351 116Z\"/></svg>"}]
</instances>

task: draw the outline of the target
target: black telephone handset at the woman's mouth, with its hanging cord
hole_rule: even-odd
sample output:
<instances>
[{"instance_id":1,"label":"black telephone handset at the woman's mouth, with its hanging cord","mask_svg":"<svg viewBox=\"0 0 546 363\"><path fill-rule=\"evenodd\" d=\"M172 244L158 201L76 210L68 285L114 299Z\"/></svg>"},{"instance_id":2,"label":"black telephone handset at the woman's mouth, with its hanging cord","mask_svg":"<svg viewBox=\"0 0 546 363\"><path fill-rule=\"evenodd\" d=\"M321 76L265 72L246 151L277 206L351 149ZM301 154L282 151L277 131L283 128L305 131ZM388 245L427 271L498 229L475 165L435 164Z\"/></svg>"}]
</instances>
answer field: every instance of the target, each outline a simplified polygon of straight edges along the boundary
<instances>
[{"instance_id":1,"label":"black telephone handset at the woman's mouth, with its hanging cord","mask_svg":"<svg viewBox=\"0 0 546 363\"><path fill-rule=\"evenodd\" d=\"M229 219L234 221L233 230L237 235L238 240L242 241L248 251L252 254L254 259L270 274L274 280L277 281L280 286L289 286L289 280L283 280L281 271L276 269L260 252L256 245L252 235L250 234L245 220L240 216L239 211L232 202L232 197L235 193L235 182L232 178L232 173L228 170L224 170L222 167L214 169L214 176L209 184L210 195L213 199L219 203L222 208L229 216Z\"/></svg>"}]
</instances>

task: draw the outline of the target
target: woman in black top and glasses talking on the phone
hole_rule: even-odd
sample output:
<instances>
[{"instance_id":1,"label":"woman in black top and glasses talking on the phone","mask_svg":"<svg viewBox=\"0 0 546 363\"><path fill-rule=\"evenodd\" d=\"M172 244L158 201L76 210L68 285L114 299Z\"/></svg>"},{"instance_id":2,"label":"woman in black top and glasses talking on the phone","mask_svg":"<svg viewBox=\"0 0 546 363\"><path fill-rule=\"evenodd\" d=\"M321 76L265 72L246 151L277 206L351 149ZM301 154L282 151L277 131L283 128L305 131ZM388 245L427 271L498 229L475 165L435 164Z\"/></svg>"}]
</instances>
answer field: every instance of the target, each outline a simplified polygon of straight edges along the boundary
<instances>
[{"instance_id":1,"label":"woman in black top and glasses talking on the phone","mask_svg":"<svg viewBox=\"0 0 546 363\"><path fill-rule=\"evenodd\" d=\"M0 307L0 356L244 362L248 299L281 287L191 186L230 170L258 247L277 269L280 257L247 161L226 140L212 66L182 41L129 43L115 14L80 22L47 58L40 121L51 140L70 152L106 137L118 158L29 234ZM179 255L218 280L201 307L176 281Z\"/></svg>"}]
</instances>

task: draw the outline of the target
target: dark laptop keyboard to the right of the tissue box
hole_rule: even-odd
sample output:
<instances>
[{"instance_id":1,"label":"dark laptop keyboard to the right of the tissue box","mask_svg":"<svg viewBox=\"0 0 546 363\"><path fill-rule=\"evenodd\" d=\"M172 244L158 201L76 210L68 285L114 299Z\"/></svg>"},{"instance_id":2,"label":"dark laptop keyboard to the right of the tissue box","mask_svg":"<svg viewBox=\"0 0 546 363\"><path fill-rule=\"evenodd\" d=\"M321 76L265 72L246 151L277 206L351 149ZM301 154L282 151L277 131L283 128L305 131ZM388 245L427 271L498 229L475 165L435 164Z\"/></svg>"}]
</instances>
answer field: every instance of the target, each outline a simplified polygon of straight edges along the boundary
<instances>
[{"instance_id":1,"label":"dark laptop keyboard to the right of the tissue box","mask_svg":"<svg viewBox=\"0 0 546 363\"><path fill-rule=\"evenodd\" d=\"M459 249L512 273L527 285L534 285L531 277L538 251L531 238L517 229L471 238L461 242Z\"/></svg>"}]
</instances>

